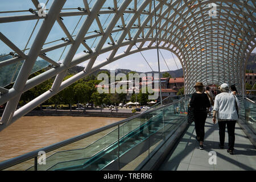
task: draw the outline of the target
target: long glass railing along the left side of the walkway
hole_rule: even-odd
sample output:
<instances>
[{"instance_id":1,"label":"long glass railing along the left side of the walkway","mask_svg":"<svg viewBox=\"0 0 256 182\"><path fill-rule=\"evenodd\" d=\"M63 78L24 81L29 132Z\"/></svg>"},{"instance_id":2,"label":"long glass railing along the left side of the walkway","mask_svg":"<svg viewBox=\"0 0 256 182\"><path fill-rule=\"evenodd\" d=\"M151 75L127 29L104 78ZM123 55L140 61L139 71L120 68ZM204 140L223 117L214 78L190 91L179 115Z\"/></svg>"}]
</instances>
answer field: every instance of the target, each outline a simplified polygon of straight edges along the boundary
<instances>
[{"instance_id":1,"label":"long glass railing along the left side of the walkway","mask_svg":"<svg viewBox=\"0 0 256 182\"><path fill-rule=\"evenodd\" d=\"M38 150L30 152L31 155L25 154L0 163L0 168L14 163L6 169L20 169L21 163L29 161L31 167L25 168L27 170L134 170L138 167L134 164L139 165L150 159L186 120L189 97L179 98L97 131L44 147L40 150L46 150L48 157L40 163L45 164L38 163L39 156L35 155ZM31 163L33 158L35 164Z\"/></svg>"}]
</instances>

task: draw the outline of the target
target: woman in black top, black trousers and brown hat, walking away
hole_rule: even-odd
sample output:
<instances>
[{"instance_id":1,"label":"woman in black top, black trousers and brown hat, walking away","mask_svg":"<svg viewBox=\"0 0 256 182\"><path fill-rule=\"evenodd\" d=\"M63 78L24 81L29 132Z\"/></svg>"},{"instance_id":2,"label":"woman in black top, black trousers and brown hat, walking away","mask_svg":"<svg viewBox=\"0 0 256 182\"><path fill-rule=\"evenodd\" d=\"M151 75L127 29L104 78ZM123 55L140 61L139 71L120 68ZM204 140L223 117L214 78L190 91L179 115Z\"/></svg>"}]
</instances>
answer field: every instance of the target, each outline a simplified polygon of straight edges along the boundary
<instances>
[{"instance_id":1,"label":"woman in black top, black trousers and brown hat, walking away","mask_svg":"<svg viewBox=\"0 0 256 182\"><path fill-rule=\"evenodd\" d=\"M210 107L210 101L207 94L204 93L202 82L197 82L194 88L196 89L196 93L192 94L189 105L194 111L196 139L200 142L199 148L203 150L204 125L207 119L207 108Z\"/></svg>"}]
</instances>

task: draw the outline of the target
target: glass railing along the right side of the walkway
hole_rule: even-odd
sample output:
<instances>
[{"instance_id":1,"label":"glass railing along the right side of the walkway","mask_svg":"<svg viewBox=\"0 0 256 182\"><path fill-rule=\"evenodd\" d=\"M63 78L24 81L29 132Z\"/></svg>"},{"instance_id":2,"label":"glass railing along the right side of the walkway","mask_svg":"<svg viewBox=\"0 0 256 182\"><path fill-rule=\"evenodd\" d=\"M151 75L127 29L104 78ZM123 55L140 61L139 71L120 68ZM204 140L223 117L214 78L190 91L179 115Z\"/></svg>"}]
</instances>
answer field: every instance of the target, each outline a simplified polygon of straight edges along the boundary
<instances>
[{"instance_id":1,"label":"glass railing along the right side of the walkway","mask_svg":"<svg viewBox=\"0 0 256 182\"><path fill-rule=\"evenodd\" d=\"M239 116L249 126L251 131L256 134L256 101L251 99L253 97L250 97L249 100L247 98L240 98L241 109Z\"/></svg>"}]
</instances>

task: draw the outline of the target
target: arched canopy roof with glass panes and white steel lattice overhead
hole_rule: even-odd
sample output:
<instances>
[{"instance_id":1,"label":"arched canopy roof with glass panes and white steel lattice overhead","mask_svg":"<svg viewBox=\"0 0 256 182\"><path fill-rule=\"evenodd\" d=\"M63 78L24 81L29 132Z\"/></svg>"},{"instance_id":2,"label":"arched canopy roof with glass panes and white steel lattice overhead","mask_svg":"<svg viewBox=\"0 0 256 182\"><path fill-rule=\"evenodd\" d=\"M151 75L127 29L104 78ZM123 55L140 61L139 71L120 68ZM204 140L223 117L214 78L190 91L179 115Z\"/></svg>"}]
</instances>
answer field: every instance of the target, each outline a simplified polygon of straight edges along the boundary
<instances>
[{"instance_id":1,"label":"arched canopy roof with glass panes and white steel lattice overhead","mask_svg":"<svg viewBox=\"0 0 256 182\"><path fill-rule=\"evenodd\" d=\"M155 23L159 48L179 57L187 93L196 81L241 91L256 42L255 1L155 0L155 11L156 22L152 0L1 1L0 86L15 84L0 104L56 75L57 92L121 57L155 49ZM106 52L108 59L94 64ZM67 69L84 61L85 71L63 82ZM51 69L27 80L44 67Z\"/></svg>"}]
</instances>

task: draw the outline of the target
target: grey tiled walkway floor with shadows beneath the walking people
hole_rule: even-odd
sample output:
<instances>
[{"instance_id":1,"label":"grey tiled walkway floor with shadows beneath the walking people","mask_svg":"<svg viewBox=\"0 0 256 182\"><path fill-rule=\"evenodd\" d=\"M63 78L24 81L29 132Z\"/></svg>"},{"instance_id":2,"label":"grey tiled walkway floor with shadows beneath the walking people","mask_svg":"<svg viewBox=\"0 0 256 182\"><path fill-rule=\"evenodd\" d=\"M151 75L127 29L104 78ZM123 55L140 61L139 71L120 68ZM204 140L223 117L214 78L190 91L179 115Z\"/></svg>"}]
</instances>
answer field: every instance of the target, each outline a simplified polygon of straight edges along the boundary
<instances>
[{"instance_id":1,"label":"grey tiled walkway floor with shadows beneath the walking people","mask_svg":"<svg viewBox=\"0 0 256 182\"><path fill-rule=\"evenodd\" d=\"M159 170L188 170L188 171L213 171L213 170L256 170L256 150L250 140L243 133L241 127L236 124L236 141L234 155L230 155L228 148L228 132L226 129L225 148L218 147L218 123L212 123L212 118L207 118L205 123L204 150L199 150L196 141L195 124L189 126L187 132L180 139L174 151L172 151L159 168ZM217 154L216 164L209 164L210 151Z\"/></svg>"}]
</instances>

